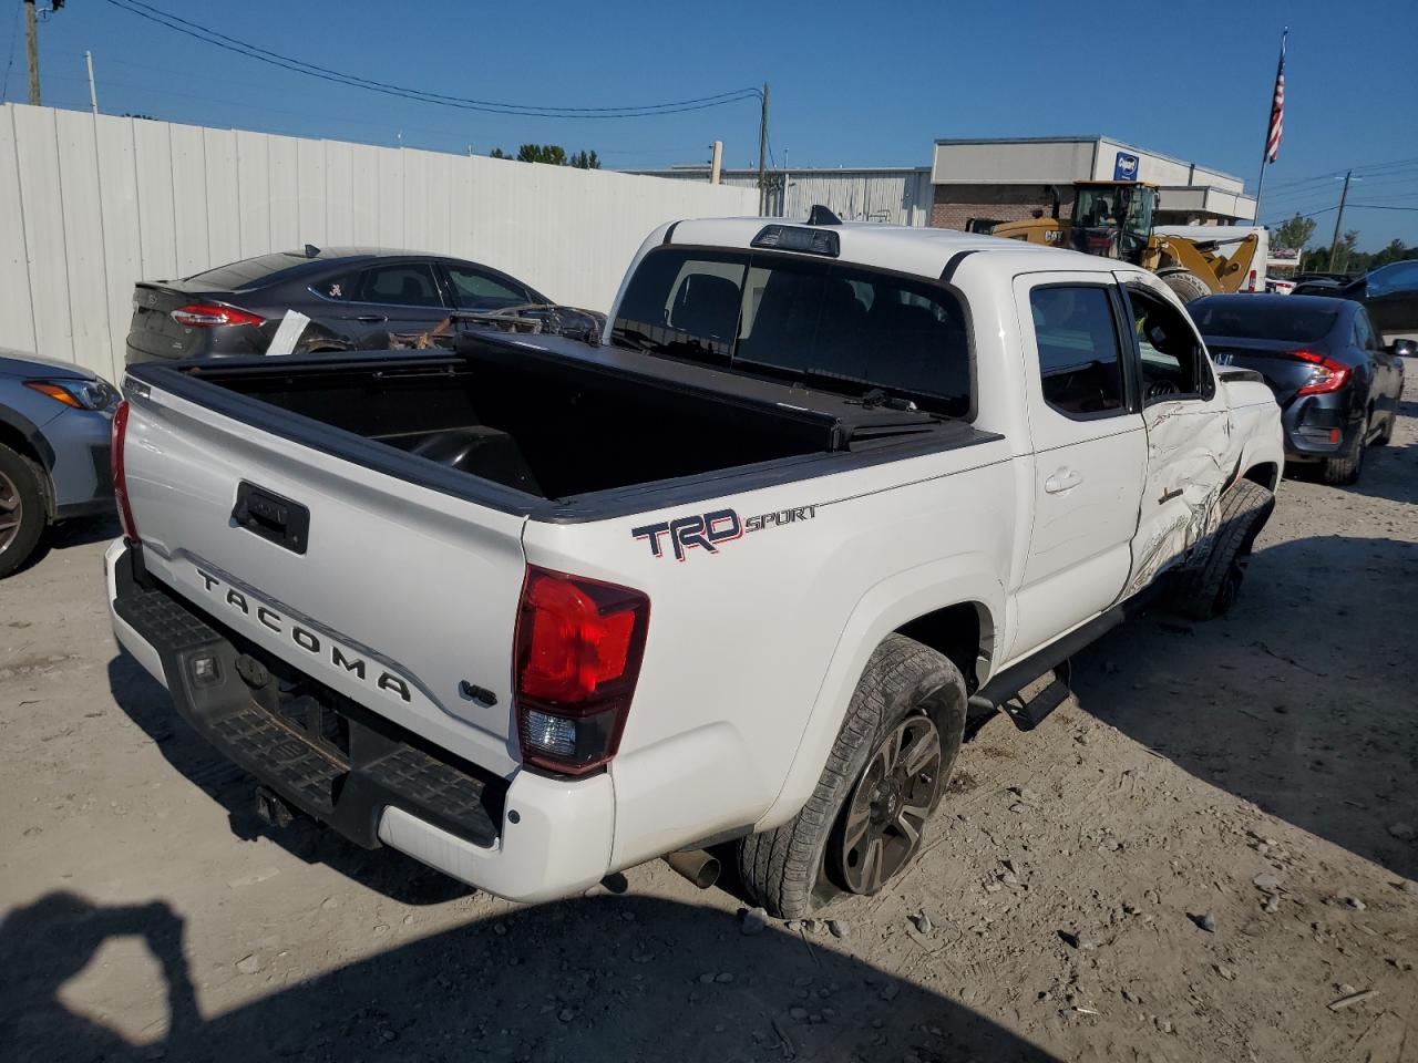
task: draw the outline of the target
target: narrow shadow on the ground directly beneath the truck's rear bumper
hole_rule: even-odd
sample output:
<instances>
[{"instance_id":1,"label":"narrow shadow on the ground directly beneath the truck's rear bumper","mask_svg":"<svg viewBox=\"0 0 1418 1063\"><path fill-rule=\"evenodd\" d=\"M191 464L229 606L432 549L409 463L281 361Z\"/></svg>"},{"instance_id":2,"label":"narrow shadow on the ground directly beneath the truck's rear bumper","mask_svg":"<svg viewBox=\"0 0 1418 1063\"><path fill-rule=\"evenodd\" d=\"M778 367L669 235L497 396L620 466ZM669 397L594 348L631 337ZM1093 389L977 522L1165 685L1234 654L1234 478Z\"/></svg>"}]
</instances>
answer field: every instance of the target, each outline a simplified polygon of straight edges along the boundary
<instances>
[{"instance_id":1,"label":"narrow shadow on the ground directly beneath the truck's rear bumper","mask_svg":"<svg viewBox=\"0 0 1418 1063\"><path fill-rule=\"evenodd\" d=\"M325 863L403 904L440 904L471 887L393 849L362 849L309 819L268 828L255 811L255 781L217 753L172 706L167 690L128 653L108 663L113 702L143 729L167 763L227 811L231 832L242 840L265 836L306 863Z\"/></svg>"}]
</instances>

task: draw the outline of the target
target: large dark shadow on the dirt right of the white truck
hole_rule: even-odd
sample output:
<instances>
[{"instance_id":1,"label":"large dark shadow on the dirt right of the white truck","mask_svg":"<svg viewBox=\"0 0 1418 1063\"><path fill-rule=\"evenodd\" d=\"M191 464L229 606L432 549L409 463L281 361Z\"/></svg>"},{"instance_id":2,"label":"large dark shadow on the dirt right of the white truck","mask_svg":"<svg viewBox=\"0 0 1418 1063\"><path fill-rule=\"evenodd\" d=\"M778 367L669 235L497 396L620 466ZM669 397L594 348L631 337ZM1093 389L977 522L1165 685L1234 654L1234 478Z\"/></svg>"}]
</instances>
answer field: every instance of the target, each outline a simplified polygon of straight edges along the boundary
<instances>
[{"instance_id":1,"label":"large dark shadow on the dirt right of the white truck","mask_svg":"<svg viewBox=\"0 0 1418 1063\"><path fill-rule=\"evenodd\" d=\"M1375 456L1358 486L1320 489L1418 503L1418 462ZM1313 536L1262 546L1224 619L1154 612L1093 643L1073 690L1198 778L1414 879L1415 636L1418 544Z\"/></svg>"}]
</instances>

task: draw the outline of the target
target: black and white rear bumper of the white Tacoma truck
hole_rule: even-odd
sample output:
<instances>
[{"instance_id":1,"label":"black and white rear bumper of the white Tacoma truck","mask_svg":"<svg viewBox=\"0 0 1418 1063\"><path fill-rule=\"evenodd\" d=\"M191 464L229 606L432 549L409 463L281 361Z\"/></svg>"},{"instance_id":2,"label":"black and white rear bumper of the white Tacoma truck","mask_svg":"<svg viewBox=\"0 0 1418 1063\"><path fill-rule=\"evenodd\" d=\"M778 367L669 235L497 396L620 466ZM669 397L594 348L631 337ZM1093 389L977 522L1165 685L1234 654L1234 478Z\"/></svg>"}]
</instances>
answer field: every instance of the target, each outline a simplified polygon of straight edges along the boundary
<instances>
[{"instance_id":1,"label":"black and white rear bumper of the white Tacoma truck","mask_svg":"<svg viewBox=\"0 0 1418 1063\"><path fill-rule=\"evenodd\" d=\"M510 900L577 893L605 876L608 775L564 781L519 771L508 782L457 761L284 662L262 659L135 573L133 561L122 540L105 556L119 643L167 687L179 716L289 804L359 845L389 845ZM199 677L199 660L207 677ZM252 660L288 682L254 687Z\"/></svg>"}]
</instances>

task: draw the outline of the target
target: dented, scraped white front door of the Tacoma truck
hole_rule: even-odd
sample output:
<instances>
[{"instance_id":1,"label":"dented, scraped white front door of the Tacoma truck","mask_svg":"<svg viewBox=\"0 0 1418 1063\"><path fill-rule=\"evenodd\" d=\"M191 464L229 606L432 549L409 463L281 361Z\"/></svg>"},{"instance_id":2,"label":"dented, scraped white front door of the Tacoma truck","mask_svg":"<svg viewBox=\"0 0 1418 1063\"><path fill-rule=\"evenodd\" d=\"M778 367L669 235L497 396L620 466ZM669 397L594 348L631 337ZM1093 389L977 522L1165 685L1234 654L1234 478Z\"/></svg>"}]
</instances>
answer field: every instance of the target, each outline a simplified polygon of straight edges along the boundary
<instances>
[{"instance_id":1,"label":"dented, scraped white front door of the Tacoma truck","mask_svg":"<svg viewBox=\"0 0 1418 1063\"><path fill-rule=\"evenodd\" d=\"M1147 429L1147 479L1126 590L1133 594L1215 529L1238 454L1225 395L1191 319L1150 274L1117 276Z\"/></svg>"}]
</instances>

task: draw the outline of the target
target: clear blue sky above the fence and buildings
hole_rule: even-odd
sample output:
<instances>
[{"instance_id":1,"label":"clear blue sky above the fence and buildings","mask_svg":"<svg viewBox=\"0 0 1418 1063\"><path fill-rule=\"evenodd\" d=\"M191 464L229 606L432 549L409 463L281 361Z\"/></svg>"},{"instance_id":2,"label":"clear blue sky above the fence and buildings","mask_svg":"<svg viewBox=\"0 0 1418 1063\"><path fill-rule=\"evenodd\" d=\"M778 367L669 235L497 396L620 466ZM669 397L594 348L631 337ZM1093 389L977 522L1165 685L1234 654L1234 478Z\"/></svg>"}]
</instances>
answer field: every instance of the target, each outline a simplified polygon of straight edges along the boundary
<instances>
[{"instance_id":1,"label":"clear blue sky above the fence and buildings","mask_svg":"<svg viewBox=\"0 0 1418 1063\"><path fill-rule=\"evenodd\" d=\"M920 166L937 136L1106 133L1255 184L1280 28L1290 27L1280 159L1262 220L1322 211L1364 174L1344 228L1418 244L1418 4L559 3L145 0L323 67L431 92L623 106L771 84L774 157ZM41 0L41 6L45 0ZM7 101L26 99L21 0L0 0ZM201 125L478 153L596 149L608 167L757 160L757 103L567 120L474 113L332 85L69 0L40 27L44 102ZM3 74L4 67L0 67ZM1380 208L1380 207L1387 207ZM1327 242L1334 211L1316 215Z\"/></svg>"}]
</instances>

